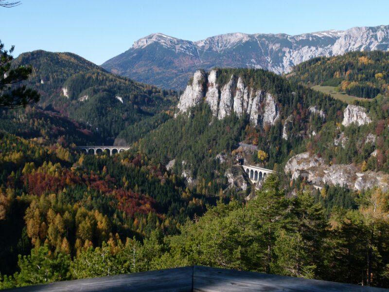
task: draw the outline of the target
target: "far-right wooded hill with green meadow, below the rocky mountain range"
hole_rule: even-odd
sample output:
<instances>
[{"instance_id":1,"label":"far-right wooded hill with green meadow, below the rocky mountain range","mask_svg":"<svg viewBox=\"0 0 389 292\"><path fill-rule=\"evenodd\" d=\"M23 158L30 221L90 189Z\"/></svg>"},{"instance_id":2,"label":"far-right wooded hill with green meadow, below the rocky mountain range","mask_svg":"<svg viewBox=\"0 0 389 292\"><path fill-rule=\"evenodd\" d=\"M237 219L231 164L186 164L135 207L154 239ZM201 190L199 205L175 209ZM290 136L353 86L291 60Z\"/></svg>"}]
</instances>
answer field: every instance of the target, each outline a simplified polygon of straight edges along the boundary
<instances>
[{"instance_id":1,"label":"far-right wooded hill with green meadow, below the rocky mountain range","mask_svg":"<svg viewBox=\"0 0 389 292\"><path fill-rule=\"evenodd\" d=\"M388 72L388 52L352 52L303 62L287 77L309 86L333 86L350 95L373 98L379 93L389 96Z\"/></svg>"}]
</instances>

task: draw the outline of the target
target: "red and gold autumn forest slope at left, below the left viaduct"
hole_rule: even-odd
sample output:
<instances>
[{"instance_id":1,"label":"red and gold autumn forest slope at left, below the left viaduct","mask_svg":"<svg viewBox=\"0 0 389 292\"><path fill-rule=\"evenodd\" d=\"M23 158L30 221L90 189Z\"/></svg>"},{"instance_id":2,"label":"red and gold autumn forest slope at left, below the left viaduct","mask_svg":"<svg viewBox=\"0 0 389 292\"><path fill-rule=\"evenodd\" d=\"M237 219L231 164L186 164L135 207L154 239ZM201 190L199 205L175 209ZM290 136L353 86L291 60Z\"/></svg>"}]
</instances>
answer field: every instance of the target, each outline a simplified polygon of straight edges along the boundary
<instances>
[{"instance_id":1,"label":"red and gold autumn forest slope at left, below the left viaduct","mask_svg":"<svg viewBox=\"0 0 389 292\"><path fill-rule=\"evenodd\" d=\"M18 254L34 246L75 256L103 241L141 240L156 229L176 234L214 202L135 152L84 156L3 131L0 149L0 274L13 274Z\"/></svg>"}]
</instances>

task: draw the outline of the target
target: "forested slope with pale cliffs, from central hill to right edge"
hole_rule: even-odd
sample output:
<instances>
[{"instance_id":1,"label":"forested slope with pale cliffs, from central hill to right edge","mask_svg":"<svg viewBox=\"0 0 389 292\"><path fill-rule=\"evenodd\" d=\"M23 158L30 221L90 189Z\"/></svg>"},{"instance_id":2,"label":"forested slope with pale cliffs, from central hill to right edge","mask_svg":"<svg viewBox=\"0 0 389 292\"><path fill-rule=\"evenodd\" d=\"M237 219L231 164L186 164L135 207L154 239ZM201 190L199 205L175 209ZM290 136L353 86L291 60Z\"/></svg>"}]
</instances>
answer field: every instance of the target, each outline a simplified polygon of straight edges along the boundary
<instances>
[{"instance_id":1,"label":"forested slope with pale cliffs, from central hill to right edge","mask_svg":"<svg viewBox=\"0 0 389 292\"><path fill-rule=\"evenodd\" d=\"M155 161L175 160L174 171L206 193L229 185L226 171L240 159L283 172L289 158L305 151L323 164L353 164L354 172L388 172L388 99L363 106L346 107L262 70L198 71L180 96L175 119L135 146ZM242 153L239 142L265 155Z\"/></svg>"}]
</instances>

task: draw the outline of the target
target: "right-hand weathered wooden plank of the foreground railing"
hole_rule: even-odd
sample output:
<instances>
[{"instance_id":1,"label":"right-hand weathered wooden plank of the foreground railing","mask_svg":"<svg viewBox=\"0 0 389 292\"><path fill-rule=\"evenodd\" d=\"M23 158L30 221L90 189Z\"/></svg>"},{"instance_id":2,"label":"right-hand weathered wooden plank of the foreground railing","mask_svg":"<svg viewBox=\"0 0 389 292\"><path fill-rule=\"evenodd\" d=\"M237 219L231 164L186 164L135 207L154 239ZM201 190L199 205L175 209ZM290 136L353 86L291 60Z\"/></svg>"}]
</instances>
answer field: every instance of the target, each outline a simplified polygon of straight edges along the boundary
<instances>
[{"instance_id":1,"label":"right-hand weathered wooden plank of the foreground railing","mask_svg":"<svg viewBox=\"0 0 389 292\"><path fill-rule=\"evenodd\" d=\"M387 289L200 266L194 267L193 287L195 292L388 292Z\"/></svg>"}]
</instances>

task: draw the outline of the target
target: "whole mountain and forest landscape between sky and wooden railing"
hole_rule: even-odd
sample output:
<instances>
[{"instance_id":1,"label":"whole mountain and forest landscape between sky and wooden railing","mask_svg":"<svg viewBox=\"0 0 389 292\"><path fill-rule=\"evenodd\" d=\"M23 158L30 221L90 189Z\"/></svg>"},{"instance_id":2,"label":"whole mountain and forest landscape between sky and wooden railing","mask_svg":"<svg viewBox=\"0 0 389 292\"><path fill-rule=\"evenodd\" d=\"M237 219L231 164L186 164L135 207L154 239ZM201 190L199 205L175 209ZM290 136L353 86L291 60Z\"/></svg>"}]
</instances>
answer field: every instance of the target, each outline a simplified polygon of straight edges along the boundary
<instances>
[{"instance_id":1,"label":"whole mountain and forest landscape between sky and wooden railing","mask_svg":"<svg viewBox=\"0 0 389 292\"><path fill-rule=\"evenodd\" d=\"M0 288L193 265L388 288L388 33L20 54L1 93L40 100L0 108Z\"/></svg>"}]
</instances>

